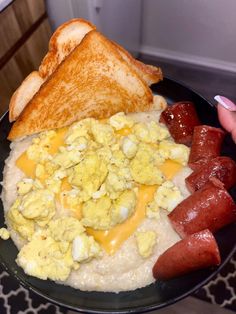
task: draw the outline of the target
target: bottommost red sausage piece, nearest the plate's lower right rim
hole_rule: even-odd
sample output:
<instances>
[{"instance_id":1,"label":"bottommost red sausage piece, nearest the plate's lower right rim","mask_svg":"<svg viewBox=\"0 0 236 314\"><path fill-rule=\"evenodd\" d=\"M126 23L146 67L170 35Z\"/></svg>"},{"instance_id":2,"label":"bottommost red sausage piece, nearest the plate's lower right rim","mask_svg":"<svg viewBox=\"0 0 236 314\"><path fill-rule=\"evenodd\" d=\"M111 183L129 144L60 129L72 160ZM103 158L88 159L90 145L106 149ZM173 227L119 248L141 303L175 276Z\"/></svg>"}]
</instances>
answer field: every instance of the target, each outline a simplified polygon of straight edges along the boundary
<instances>
[{"instance_id":1,"label":"bottommost red sausage piece, nearest the plate's lower right rim","mask_svg":"<svg viewBox=\"0 0 236 314\"><path fill-rule=\"evenodd\" d=\"M165 251L153 267L156 279L167 280L191 271L219 265L218 245L209 230L191 234Z\"/></svg>"}]
</instances>

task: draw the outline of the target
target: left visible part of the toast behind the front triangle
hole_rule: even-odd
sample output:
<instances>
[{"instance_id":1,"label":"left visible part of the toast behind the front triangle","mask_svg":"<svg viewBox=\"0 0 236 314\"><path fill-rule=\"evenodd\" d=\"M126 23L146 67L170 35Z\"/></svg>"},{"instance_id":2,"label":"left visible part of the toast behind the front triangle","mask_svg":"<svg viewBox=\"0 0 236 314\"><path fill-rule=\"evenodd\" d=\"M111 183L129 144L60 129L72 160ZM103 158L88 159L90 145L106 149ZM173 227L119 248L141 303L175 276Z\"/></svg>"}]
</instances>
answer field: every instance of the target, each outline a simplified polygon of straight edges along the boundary
<instances>
[{"instance_id":1,"label":"left visible part of the toast behind the front triangle","mask_svg":"<svg viewBox=\"0 0 236 314\"><path fill-rule=\"evenodd\" d=\"M13 94L9 104L9 121L15 121L43 82L66 56L96 27L83 19L72 19L57 28L49 41L49 51L39 71L30 73Z\"/></svg>"}]
</instances>

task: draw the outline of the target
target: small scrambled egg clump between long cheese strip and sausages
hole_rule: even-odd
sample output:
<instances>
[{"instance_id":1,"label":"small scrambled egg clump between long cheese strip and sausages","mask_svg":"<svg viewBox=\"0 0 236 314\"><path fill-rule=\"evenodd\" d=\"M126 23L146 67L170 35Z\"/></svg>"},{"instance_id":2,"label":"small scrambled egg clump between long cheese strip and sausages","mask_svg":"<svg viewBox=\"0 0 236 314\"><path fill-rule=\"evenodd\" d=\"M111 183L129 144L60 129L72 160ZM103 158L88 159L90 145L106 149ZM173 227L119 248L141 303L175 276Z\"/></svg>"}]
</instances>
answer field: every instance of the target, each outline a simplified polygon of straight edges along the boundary
<instances>
[{"instance_id":1,"label":"small scrambled egg clump between long cheese strip and sausages","mask_svg":"<svg viewBox=\"0 0 236 314\"><path fill-rule=\"evenodd\" d=\"M147 217L158 218L159 209L171 212L183 200L183 195L172 181L165 181L154 194L154 201L147 206Z\"/></svg>"}]
</instances>

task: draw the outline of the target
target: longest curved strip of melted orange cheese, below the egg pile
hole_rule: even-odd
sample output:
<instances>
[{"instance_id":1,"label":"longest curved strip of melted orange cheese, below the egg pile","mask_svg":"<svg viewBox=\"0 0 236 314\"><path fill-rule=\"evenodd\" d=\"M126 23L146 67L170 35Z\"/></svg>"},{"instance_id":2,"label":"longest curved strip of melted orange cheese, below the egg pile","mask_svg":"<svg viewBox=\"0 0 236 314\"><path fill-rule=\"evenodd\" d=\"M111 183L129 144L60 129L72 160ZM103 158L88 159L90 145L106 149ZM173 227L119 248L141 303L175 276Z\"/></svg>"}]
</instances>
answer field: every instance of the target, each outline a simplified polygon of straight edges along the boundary
<instances>
[{"instance_id":1,"label":"longest curved strip of melted orange cheese, below the egg pile","mask_svg":"<svg viewBox=\"0 0 236 314\"><path fill-rule=\"evenodd\" d=\"M153 200L156 188L156 185L140 186L135 212L122 224L105 231L87 228L87 233L92 235L108 254L114 254L145 218L146 205Z\"/></svg>"}]
</instances>

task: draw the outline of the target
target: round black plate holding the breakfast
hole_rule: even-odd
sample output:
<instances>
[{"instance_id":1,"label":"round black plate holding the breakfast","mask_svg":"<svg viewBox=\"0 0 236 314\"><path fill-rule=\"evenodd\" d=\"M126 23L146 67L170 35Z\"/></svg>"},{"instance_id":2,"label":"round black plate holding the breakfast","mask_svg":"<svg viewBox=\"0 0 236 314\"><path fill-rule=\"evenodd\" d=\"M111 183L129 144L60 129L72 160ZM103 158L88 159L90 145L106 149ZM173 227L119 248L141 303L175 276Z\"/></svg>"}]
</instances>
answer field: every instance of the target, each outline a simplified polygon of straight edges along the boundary
<instances>
[{"instance_id":1,"label":"round black plate holding the breakfast","mask_svg":"<svg viewBox=\"0 0 236 314\"><path fill-rule=\"evenodd\" d=\"M180 83L165 78L161 83L153 86L153 92L163 95L170 103L180 100L193 101L202 123L219 126L215 108L203 97ZM1 176L4 160L9 154L9 142L6 140L9 129L8 115L5 114L0 122ZM236 145L229 135L224 141L222 154L234 159L236 157ZM236 190L232 190L231 194L236 199ZM2 226L4 217L2 204L0 205L0 225ZM209 281L233 255L236 249L235 231L236 225L234 224L216 234L222 256L220 267L197 271L168 282L157 282L146 288L119 294L83 292L57 285L51 281L29 277L15 263L17 249L11 240L0 241L0 261L23 286L58 305L84 313L140 313L170 305L193 293Z\"/></svg>"}]
</instances>

